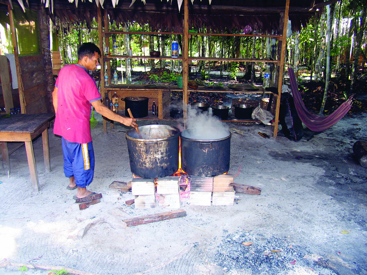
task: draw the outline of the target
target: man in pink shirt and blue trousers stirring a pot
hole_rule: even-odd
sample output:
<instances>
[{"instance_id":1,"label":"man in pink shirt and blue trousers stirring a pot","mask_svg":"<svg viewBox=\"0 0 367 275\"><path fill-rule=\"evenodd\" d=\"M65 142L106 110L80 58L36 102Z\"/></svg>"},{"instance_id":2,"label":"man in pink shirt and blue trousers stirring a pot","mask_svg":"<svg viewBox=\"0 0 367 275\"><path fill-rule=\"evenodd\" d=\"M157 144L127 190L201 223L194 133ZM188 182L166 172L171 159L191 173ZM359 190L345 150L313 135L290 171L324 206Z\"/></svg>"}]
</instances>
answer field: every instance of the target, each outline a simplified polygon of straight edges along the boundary
<instances>
[{"instance_id":1,"label":"man in pink shirt and blue trousers stirring a pot","mask_svg":"<svg viewBox=\"0 0 367 275\"><path fill-rule=\"evenodd\" d=\"M99 64L100 49L93 43L83 43L78 50L78 62L64 66L52 92L56 113L54 134L62 137L64 173L69 177L69 190L77 188L75 198L95 194L87 190L94 175L94 151L90 133L91 105L108 118L137 128L136 119L121 117L101 102L94 79L88 70Z\"/></svg>"}]
</instances>

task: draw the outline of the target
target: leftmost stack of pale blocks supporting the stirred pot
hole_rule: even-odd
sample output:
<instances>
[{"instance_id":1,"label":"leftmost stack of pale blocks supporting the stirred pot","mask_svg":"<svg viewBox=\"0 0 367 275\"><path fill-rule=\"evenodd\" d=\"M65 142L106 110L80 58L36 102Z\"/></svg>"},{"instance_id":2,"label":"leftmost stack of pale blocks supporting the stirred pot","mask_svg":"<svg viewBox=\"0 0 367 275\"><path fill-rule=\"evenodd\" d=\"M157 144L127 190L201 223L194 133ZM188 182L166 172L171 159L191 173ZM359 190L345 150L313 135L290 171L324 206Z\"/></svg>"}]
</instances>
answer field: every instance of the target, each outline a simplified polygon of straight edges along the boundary
<instances>
[{"instance_id":1,"label":"leftmost stack of pale blocks supporting the stirred pot","mask_svg":"<svg viewBox=\"0 0 367 275\"><path fill-rule=\"evenodd\" d=\"M131 192L135 195L135 208L156 207L154 179L132 179Z\"/></svg>"}]
</instances>

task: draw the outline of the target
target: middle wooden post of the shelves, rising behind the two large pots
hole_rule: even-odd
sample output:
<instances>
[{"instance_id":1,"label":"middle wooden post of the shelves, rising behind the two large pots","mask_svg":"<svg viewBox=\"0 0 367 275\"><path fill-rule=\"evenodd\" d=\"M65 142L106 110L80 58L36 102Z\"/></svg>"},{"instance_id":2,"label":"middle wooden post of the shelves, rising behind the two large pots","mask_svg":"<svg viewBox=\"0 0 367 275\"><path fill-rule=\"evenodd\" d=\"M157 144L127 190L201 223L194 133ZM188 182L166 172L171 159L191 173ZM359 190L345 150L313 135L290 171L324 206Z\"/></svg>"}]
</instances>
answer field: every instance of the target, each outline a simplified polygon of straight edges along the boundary
<instances>
[{"instance_id":1,"label":"middle wooden post of the shelves, rising behind the two large pots","mask_svg":"<svg viewBox=\"0 0 367 275\"><path fill-rule=\"evenodd\" d=\"M183 124L186 125L187 120L187 104L189 103L189 94L187 91L187 80L189 74L189 6L188 0L183 1L183 52L182 52L182 85L183 85Z\"/></svg>"}]
</instances>

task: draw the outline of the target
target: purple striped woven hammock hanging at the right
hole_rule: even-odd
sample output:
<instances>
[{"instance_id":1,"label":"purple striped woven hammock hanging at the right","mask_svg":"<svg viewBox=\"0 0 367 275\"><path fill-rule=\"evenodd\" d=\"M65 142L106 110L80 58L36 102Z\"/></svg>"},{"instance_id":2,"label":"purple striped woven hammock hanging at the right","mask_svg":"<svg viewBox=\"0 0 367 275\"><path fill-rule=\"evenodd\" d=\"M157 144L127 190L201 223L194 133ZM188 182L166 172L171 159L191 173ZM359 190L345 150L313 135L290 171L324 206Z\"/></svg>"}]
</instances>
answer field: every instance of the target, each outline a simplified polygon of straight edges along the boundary
<instances>
[{"instance_id":1,"label":"purple striped woven hammock hanging at the right","mask_svg":"<svg viewBox=\"0 0 367 275\"><path fill-rule=\"evenodd\" d=\"M288 68L289 73L289 80L292 87L292 95L294 104L298 113L299 118L301 121L312 131L315 132L322 132L327 129L329 129L331 126L333 126L335 123L337 123L339 120L341 120L342 117L348 111L350 110L350 107L352 107L352 98L353 95L348 98L344 103L342 103L338 109L336 109L332 114L323 116L323 115L315 115L311 114L305 107L305 104L302 101L301 93L298 90L297 80L294 75L294 71L292 68Z\"/></svg>"}]
</instances>

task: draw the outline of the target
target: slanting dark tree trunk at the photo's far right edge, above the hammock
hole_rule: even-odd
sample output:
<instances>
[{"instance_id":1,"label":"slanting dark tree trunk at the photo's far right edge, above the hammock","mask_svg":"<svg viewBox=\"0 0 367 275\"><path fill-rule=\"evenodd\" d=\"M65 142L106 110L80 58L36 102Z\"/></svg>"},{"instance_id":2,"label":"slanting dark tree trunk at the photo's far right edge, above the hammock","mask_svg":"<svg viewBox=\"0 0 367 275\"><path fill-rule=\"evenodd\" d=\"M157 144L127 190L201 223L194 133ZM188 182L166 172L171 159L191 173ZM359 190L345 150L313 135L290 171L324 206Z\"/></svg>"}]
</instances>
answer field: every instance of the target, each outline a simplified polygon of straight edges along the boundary
<instances>
[{"instance_id":1,"label":"slanting dark tree trunk at the photo's far right edge, above the hammock","mask_svg":"<svg viewBox=\"0 0 367 275\"><path fill-rule=\"evenodd\" d=\"M354 24L354 37L356 41L356 45L354 48L353 54L353 67L352 67L352 77L350 78L350 92L353 91L354 80L357 78L357 69L358 69L358 61L359 55L361 52L361 43L363 39L363 32L366 29L366 7L362 7L360 24L359 20L355 20Z\"/></svg>"}]
</instances>

